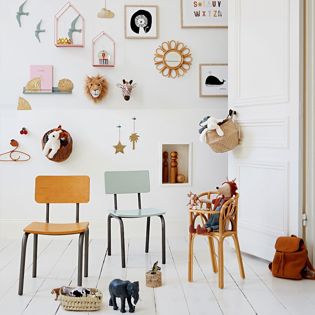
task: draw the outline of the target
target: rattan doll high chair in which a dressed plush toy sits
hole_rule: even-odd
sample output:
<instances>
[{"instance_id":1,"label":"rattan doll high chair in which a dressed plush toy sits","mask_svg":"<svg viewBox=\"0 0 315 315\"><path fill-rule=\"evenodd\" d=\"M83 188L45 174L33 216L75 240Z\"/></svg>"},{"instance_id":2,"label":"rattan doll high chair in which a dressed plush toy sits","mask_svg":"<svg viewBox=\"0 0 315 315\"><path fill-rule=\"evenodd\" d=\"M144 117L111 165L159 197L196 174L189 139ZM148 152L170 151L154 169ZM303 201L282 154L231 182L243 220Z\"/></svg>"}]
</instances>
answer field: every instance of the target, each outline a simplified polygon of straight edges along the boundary
<instances>
[{"instance_id":1,"label":"rattan doll high chair in which a dressed plush toy sits","mask_svg":"<svg viewBox=\"0 0 315 315\"><path fill-rule=\"evenodd\" d=\"M211 200L211 195L215 195L212 198L216 198L219 194L217 191L210 191L210 192L203 192L202 194L198 195L198 199L206 196L207 199ZM210 249L210 256L212 262L212 270L213 272L218 272L218 286L220 289L223 289L223 241L226 237L231 236L234 240L236 255L238 258L238 266L241 278L245 278L244 268L243 268L243 261L241 256L241 250L239 248L238 237L237 237L237 212L238 212L238 198L239 194L236 193L234 197L227 200L221 208L221 211L213 211L212 204L207 203L207 210L202 209L203 203L200 203L200 209L188 209L189 211L189 223L195 225L195 221L198 216L200 216L203 228L205 227L204 224L209 220L210 215L215 213L220 214L219 219L219 231L212 231L205 234L197 234L197 233L189 233L189 258L188 258L188 281L192 281L192 257L193 257L193 243L194 239L197 235L206 236L208 238L209 249ZM207 216L206 216L207 215ZM228 220L231 222L231 230L224 231L224 227ZM215 255L215 247L213 239L218 243L219 249L219 269L217 267L216 255Z\"/></svg>"}]
</instances>

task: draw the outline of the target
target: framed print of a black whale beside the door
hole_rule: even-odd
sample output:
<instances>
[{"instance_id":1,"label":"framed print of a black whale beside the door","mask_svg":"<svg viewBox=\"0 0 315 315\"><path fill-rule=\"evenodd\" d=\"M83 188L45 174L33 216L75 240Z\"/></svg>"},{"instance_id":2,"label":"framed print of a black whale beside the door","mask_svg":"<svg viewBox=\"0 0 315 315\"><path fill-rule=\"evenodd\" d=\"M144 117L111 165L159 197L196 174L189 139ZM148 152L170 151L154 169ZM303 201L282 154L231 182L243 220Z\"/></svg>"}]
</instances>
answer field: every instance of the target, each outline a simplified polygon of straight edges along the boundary
<instances>
[{"instance_id":1,"label":"framed print of a black whale beside the door","mask_svg":"<svg viewBox=\"0 0 315 315\"><path fill-rule=\"evenodd\" d=\"M227 63L199 64L199 96L227 96Z\"/></svg>"}]
</instances>

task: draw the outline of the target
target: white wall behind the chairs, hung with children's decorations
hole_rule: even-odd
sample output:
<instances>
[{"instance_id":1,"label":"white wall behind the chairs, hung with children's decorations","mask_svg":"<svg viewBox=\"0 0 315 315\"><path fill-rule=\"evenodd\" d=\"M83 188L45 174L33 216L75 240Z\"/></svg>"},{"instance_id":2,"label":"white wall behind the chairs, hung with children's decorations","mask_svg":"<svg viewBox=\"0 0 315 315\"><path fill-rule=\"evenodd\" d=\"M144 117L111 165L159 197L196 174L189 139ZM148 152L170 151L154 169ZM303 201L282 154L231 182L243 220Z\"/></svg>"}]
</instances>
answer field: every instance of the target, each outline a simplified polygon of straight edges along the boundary
<instances>
[{"instance_id":1,"label":"white wall behind the chairs, hung with children's decorations","mask_svg":"<svg viewBox=\"0 0 315 315\"><path fill-rule=\"evenodd\" d=\"M107 9L115 13L113 19L99 19L97 12L104 1L72 0L83 14L85 22L84 48L54 46L54 15L65 0L27 1L28 16L21 16L21 28L15 18L18 3L2 3L0 19L0 151L11 149L9 140L19 141L19 149L31 155L21 163L0 162L1 238L20 238L23 227L31 221L43 220L45 205L34 201L37 175L89 175L90 202L81 206L80 220L91 222L91 237L106 237L107 209L113 207L113 197L104 193L103 173L106 170L150 171L151 192L143 194L142 207L156 207L166 211L166 233L187 235L187 192L201 193L224 181L227 174L227 155L215 154L199 142L199 120L211 115L226 117L227 98L198 97L199 63L227 62L227 29L181 29L180 1L128 1L126 4L158 5L158 39L124 39L124 8L122 1L107 1ZM39 20L43 19L41 43L34 36ZM92 67L91 42L106 31L116 42L116 66ZM191 49L191 69L184 77L165 78L155 69L155 49L167 40L182 41ZM31 64L53 65L53 86L61 78L74 83L72 95L23 95L29 80ZM109 94L95 105L83 93L83 79L100 71L109 82ZM130 100L123 100L115 86L122 79L138 83ZM18 97L25 97L32 111L17 111ZM140 140L133 151L128 140L132 132L131 117L135 116L136 132ZM68 160L54 163L43 156L43 134L59 124L73 137L73 152ZM118 141L117 124L121 124L121 142L125 154L114 154L112 145ZM20 135L22 127L28 135ZM159 143L192 141L192 186L159 186ZM180 158L180 157L179 157ZM129 203L132 201L133 203ZM136 196L118 196L118 207L137 206ZM75 218L74 205L52 205L51 222L70 222ZM158 219L158 218L157 218ZM159 219L158 219L159 220ZM126 220L127 221L127 220ZM115 222L116 224L116 222ZM117 227L117 228L116 228ZM118 237L118 226L113 226ZM126 237L145 233L144 220L130 219L125 223ZM160 222L152 220L152 236L160 235Z\"/></svg>"}]
</instances>

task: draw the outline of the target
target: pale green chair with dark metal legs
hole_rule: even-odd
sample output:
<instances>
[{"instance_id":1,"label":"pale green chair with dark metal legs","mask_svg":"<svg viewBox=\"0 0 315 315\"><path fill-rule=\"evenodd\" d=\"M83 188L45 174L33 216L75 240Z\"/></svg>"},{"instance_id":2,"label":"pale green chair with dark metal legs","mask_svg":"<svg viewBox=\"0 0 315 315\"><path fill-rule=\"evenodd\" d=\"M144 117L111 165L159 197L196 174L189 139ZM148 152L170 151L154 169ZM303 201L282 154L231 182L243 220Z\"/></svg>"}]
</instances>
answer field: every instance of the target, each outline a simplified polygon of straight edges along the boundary
<instances>
[{"instance_id":1,"label":"pale green chair with dark metal legs","mask_svg":"<svg viewBox=\"0 0 315 315\"><path fill-rule=\"evenodd\" d=\"M107 255L111 255L111 219L115 218L120 224L121 264L126 267L125 262L125 236L122 218L146 217L146 253L149 252L150 218L158 216L162 223L162 264L165 264L165 212L155 208L141 209L141 192L150 192L149 171L109 171L105 172L105 193L114 194L114 210L108 210L107 219ZM135 210L117 210L117 194L138 194L138 208Z\"/></svg>"}]
</instances>

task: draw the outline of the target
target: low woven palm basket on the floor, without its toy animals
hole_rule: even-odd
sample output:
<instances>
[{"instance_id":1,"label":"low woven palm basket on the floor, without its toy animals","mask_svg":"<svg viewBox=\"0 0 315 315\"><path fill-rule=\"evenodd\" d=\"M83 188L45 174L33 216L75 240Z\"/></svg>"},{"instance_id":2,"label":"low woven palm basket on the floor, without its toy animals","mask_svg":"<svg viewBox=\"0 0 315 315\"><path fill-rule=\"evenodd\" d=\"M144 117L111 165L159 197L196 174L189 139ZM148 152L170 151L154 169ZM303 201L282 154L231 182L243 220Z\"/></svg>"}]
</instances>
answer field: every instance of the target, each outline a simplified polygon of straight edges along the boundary
<instances>
[{"instance_id":1,"label":"low woven palm basket on the floor, without its toy animals","mask_svg":"<svg viewBox=\"0 0 315 315\"><path fill-rule=\"evenodd\" d=\"M75 287L69 287L75 289ZM102 304L103 294L99 289L90 288L91 292L99 292L100 299L96 297L75 297L61 294L60 288L60 305L67 311L96 311L100 309Z\"/></svg>"}]
</instances>

